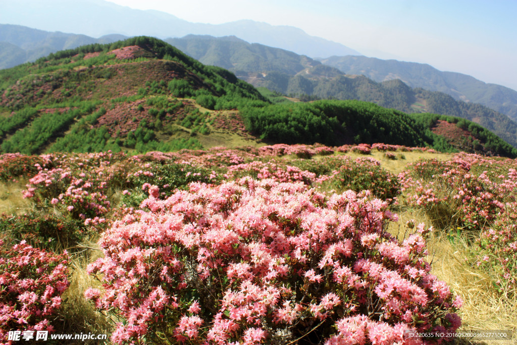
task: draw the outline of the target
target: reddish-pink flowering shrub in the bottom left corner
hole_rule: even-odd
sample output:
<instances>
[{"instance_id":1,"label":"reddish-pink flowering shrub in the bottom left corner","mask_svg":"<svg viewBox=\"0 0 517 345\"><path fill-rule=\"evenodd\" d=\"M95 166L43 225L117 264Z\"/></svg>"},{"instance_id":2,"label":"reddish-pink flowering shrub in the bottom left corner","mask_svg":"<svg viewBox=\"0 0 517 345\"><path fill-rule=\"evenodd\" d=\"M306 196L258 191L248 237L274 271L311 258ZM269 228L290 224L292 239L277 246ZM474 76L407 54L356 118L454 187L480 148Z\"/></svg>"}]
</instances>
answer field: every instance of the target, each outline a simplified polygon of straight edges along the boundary
<instances>
[{"instance_id":1,"label":"reddish-pink flowering shrub in the bottom left corner","mask_svg":"<svg viewBox=\"0 0 517 345\"><path fill-rule=\"evenodd\" d=\"M49 318L68 288L68 256L0 240L0 343L8 331L53 331Z\"/></svg>"}]
</instances>

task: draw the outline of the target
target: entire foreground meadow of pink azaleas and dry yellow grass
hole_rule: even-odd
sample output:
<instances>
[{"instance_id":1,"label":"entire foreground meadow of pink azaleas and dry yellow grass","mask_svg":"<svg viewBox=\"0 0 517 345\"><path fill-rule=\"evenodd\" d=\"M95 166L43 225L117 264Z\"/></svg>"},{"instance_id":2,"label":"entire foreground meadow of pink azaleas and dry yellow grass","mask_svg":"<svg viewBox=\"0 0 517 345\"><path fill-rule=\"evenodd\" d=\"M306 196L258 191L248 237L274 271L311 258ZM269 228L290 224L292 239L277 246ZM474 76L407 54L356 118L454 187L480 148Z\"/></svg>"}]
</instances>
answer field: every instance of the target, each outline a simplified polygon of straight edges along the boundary
<instances>
[{"instance_id":1,"label":"entire foreground meadow of pink azaleas and dry yellow grass","mask_svg":"<svg viewBox=\"0 0 517 345\"><path fill-rule=\"evenodd\" d=\"M3 154L0 343L485 343L447 334L517 331L516 198L427 147Z\"/></svg>"}]
</instances>

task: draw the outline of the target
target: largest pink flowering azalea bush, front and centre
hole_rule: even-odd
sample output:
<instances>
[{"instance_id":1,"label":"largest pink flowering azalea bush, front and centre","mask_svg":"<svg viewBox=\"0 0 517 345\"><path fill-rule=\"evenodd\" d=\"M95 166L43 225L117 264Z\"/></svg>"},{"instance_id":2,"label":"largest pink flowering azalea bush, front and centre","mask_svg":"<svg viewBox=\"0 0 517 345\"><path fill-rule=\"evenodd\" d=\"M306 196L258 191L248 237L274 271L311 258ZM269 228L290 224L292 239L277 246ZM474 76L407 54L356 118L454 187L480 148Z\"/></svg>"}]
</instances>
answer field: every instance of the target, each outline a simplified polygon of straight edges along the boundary
<instances>
[{"instance_id":1,"label":"largest pink flowering azalea bush, front and centre","mask_svg":"<svg viewBox=\"0 0 517 345\"><path fill-rule=\"evenodd\" d=\"M287 343L313 329L315 342L388 344L460 325L460 299L423 259L423 224L398 242L397 216L369 192L251 178L165 200L151 189L149 211L116 221L88 266L105 291L85 296L125 320L115 343Z\"/></svg>"}]
</instances>

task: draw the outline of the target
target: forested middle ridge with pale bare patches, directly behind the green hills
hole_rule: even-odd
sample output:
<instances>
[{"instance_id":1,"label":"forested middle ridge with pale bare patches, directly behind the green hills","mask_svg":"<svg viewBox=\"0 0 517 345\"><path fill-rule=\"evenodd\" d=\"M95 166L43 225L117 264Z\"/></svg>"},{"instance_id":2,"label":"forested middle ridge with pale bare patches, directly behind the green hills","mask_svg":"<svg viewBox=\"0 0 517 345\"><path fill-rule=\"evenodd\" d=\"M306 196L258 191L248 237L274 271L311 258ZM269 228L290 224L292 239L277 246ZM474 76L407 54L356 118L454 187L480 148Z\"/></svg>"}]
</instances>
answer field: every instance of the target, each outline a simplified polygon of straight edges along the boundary
<instances>
[{"instance_id":1,"label":"forested middle ridge with pale bare patches, directly behind the green hills","mask_svg":"<svg viewBox=\"0 0 517 345\"><path fill-rule=\"evenodd\" d=\"M365 76L345 74L307 56L250 44L236 37L189 35L167 41L205 64L233 71L256 87L307 100L357 99L406 113L463 117L494 131L517 147L517 123L504 114L445 93L411 88L399 79L376 82Z\"/></svg>"}]
</instances>

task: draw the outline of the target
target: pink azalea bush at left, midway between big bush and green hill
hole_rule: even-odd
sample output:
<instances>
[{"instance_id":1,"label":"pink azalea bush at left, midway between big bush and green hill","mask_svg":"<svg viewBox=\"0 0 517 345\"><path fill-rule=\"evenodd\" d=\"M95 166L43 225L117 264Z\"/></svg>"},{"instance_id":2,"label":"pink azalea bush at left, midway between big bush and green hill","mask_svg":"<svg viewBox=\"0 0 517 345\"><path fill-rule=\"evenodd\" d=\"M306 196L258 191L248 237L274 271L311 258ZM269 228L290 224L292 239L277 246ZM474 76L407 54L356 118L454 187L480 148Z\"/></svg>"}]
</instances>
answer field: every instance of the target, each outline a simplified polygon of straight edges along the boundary
<instances>
[{"instance_id":1,"label":"pink azalea bush at left, midway between big bush and green hill","mask_svg":"<svg viewBox=\"0 0 517 345\"><path fill-rule=\"evenodd\" d=\"M127 184L127 170L134 163L124 154L110 152L45 157L54 162L53 167L35 164L38 173L29 179L23 196L41 210L56 208L80 228L91 225L102 230L108 226L109 197L115 188Z\"/></svg>"}]
</instances>

